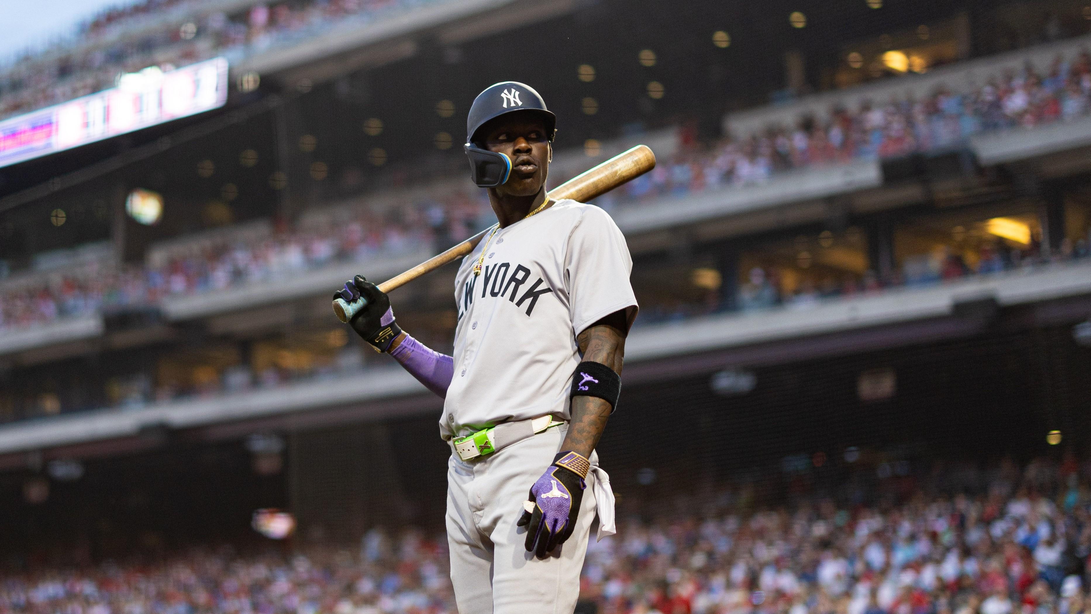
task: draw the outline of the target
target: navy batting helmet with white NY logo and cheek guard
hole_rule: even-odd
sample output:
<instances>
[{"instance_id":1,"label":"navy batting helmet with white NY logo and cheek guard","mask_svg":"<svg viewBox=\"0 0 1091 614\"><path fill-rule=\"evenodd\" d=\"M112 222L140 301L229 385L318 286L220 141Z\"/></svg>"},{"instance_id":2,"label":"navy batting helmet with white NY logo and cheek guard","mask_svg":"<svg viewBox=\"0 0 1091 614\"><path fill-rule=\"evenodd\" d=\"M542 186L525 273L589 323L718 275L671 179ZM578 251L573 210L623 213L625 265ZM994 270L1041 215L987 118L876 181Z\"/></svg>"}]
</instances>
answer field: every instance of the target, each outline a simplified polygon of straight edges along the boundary
<instances>
[{"instance_id":1,"label":"navy batting helmet with white NY logo and cheek guard","mask_svg":"<svg viewBox=\"0 0 1091 614\"><path fill-rule=\"evenodd\" d=\"M546 121L546 135L553 141L556 116L546 108L546 100L533 87L516 81L490 85L478 94L466 118L466 155L470 159L470 178L481 188L495 188L507 181L512 160L504 154L490 152L479 145L481 127L500 116L532 111Z\"/></svg>"}]
</instances>

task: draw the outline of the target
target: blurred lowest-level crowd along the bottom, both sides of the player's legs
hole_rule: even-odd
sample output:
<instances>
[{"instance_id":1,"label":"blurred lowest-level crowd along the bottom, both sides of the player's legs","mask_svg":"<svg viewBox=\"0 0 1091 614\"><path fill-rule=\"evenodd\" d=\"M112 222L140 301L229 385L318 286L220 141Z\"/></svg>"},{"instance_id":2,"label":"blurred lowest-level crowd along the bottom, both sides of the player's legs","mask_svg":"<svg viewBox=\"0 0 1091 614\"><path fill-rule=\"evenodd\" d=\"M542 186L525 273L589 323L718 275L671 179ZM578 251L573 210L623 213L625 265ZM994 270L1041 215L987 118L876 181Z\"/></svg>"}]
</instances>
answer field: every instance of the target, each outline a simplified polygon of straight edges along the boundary
<instances>
[{"instance_id":1,"label":"blurred lowest-level crowd along the bottom, both sides of the player's legs","mask_svg":"<svg viewBox=\"0 0 1091 614\"><path fill-rule=\"evenodd\" d=\"M847 463L850 457L846 457ZM1089 603L1091 466L859 460L837 501L706 496L620 504L591 541L584 614L1080 614ZM920 469L924 469L920 471ZM679 486L672 486L679 490ZM771 504L771 505L770 505ZM2 614L454 613L442 534L373 529L360 547L224 547L152 563L8 573ZM355 551L355 552L353 552Z\"/></svg>"}]
</instances>

